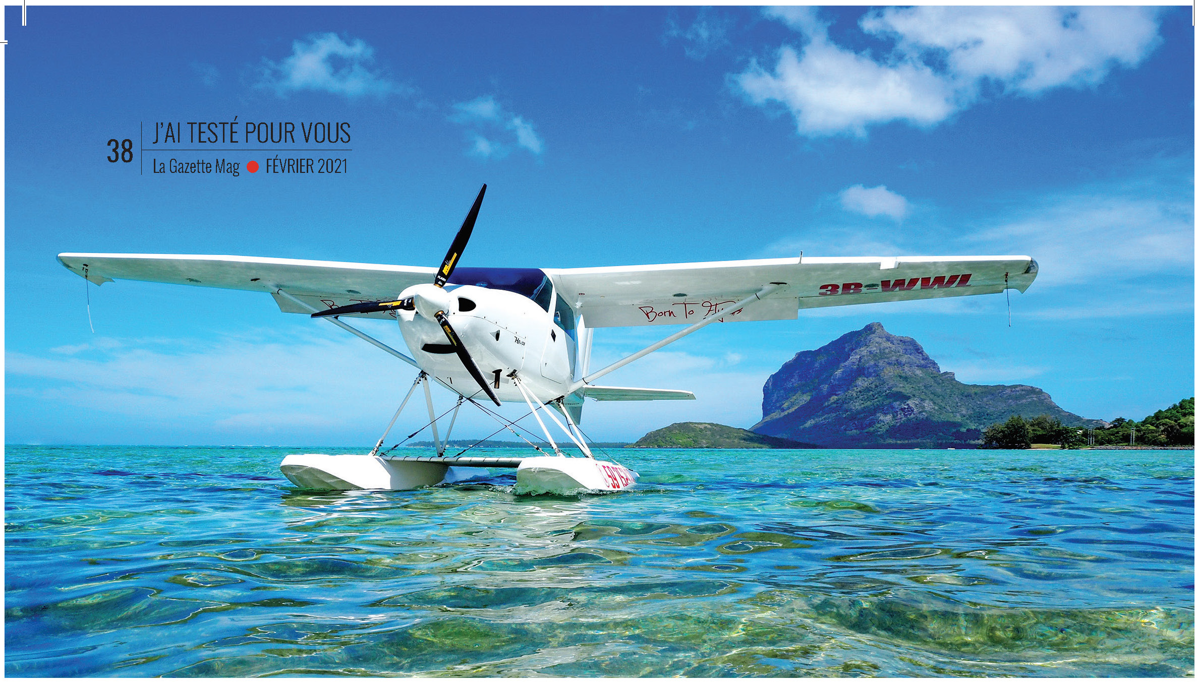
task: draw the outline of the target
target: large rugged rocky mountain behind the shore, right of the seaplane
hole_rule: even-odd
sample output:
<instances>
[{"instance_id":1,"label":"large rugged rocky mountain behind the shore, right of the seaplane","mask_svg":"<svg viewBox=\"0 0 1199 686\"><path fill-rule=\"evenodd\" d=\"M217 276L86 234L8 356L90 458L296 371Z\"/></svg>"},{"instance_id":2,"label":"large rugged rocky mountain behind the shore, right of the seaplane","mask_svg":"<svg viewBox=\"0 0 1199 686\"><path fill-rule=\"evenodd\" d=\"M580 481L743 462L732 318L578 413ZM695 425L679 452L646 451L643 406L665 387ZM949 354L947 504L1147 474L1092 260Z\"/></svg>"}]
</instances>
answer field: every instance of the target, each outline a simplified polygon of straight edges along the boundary
<instances>
[{"instance_id":1,"label":"large rugged rocky mountain behind the shore, right of the seaplane","mask_svg":"<svg viewBox=\"0 0 1199 686\"><path fill-rule=\"evenodd\" d=\"M1103 426L1032 386L975 386L941 371L915 339L874 322L795 354L766 380L752 431L829 448L969 448L1013 414Z\"/></svg>"}]
</instances>

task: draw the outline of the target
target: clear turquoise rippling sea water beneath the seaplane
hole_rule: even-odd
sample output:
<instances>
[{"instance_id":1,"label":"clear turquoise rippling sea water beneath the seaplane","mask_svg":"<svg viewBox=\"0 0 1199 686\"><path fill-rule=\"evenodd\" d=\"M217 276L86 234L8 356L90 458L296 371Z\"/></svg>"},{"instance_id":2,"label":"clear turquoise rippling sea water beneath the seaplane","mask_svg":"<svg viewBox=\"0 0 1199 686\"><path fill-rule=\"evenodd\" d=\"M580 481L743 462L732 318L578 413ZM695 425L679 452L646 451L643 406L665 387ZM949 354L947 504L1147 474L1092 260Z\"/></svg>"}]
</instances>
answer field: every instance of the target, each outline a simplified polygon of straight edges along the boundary
<instances>
[{"instance_id":1,"label":"clear turquoise rippling sea water beneath the seaplane","mask_svg":"<svg viewBox=\"0 0 1199 686\"><path fill-rule=\"evenodd\" d=\"M8 676L1194 670L1192 451L608 450L628 493L7 447ZM342 451L342 450L337 450Z\"/></svg>"}]
</instances>

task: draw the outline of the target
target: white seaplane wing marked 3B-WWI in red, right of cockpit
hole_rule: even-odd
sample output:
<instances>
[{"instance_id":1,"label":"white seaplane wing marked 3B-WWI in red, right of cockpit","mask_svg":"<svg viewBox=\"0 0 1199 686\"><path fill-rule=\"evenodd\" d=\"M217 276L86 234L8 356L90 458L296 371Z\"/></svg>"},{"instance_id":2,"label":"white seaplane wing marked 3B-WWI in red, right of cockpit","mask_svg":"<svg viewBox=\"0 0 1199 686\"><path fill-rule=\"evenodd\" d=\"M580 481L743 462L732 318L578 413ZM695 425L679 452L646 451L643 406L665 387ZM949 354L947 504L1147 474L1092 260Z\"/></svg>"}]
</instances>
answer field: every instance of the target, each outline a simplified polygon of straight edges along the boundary
<instances>
[{"instance_id":1,"label":"white seaplane wing marked 3B-WWI in red, right of cockpit","mask_svg":"<svg viewBox=\"0 0 1199 686\"><path fill-rule=\"evenodd\" d=\"M1024 292L1029 256L787 257L544 269L588 327L686 324L775 283L787 286L722 321L794 320L799 310Z\"/></svg>"}]
</instances>

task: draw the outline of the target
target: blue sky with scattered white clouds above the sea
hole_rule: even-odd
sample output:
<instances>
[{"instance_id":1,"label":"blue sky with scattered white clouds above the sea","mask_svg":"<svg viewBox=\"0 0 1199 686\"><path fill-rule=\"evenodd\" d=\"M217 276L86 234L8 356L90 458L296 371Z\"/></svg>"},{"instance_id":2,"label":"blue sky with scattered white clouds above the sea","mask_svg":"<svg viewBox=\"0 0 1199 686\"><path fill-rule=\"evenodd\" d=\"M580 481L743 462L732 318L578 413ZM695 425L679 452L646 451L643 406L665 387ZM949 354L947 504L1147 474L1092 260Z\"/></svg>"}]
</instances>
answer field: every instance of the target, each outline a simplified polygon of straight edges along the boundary
<instances>
[{"instance_id":1,"label":"blue sky with scattered white clouds above the sea","mask_svg":"<svg viewBox=\"0 0 1199 686\"><path fill-rule=\"evenodd\" d=\"M28 26L19 7L5 20L7 443L372 445L411 368L260 293L86 286L55 255L434 267L482 183L469 266L801 250L1040 263L1010 308L994 295L707 327L604 378L697 400L588 401L596 441L748 427L783 363L875 321L959 381L1036 386L1087 418L1194 393L1186 7L31 6ZM264 153L245 140L138 154L155 122L235 117L348 123L350 150L330 153L344 174L248 174ZM133 162L108 162L109 139ZM239 176L151 172L223 154ZM393 324L357 323L404 350ZM598 329L592 369L673 330ZM495 429L464 412L454 436Z\"/></svg>"}]
</instances>

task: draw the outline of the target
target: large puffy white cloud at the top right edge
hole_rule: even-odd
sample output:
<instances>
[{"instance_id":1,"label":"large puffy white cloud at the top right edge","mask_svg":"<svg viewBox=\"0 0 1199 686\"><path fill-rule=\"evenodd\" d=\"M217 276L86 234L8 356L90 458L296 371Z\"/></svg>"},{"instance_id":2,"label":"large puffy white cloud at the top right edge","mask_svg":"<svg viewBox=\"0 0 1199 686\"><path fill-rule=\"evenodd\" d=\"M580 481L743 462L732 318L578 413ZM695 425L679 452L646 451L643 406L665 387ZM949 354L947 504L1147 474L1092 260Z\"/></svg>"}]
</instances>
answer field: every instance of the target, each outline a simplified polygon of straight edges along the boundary
<instances>
[{"instance_id":1,"label":"large puffy white cloud at the top right edge","mask_svg":"<svg viewBox=\"0 0 1199 686\"><path fill-rule=\"evenodd\" d=\"M932 127L971 107L987 86L1037 95L1101 83L1135 67L1157 45L1147 7L908 7L874 11L861 29L888 41L875 57L836 44L813 8L769 8L807 41L753 62L733 80L758 105L779 103L800 134L864 136L869 126Z\"/></svg>"}]
</instances>

